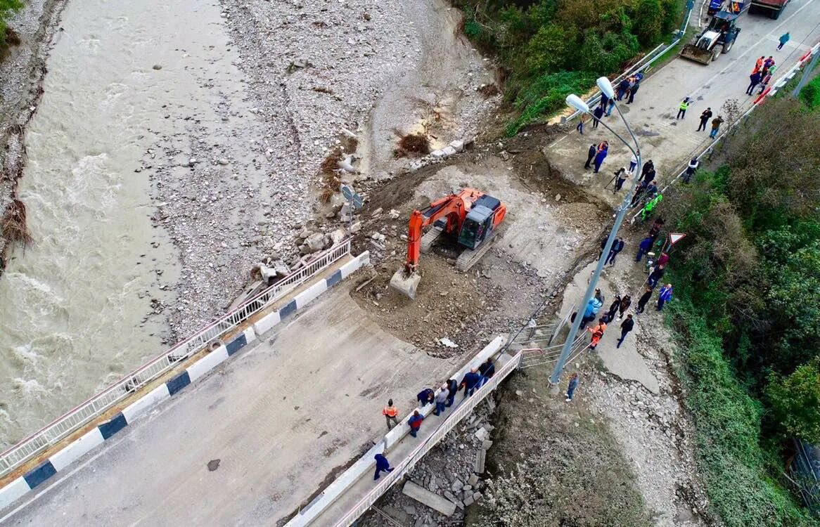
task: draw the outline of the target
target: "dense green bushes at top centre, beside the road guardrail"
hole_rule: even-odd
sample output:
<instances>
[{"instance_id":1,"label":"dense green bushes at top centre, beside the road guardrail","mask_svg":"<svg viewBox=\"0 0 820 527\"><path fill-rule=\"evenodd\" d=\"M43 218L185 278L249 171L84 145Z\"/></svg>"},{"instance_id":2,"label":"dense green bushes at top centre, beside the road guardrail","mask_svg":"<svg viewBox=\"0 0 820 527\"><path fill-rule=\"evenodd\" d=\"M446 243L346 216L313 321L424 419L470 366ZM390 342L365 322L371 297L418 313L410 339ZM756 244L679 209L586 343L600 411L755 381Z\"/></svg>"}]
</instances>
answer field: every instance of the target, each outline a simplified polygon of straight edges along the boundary
<instances>
[{"instance_id":1,"label":"dense green bushes at top centre, beside the road guardrail","mask_svg":"<svg viewBox=\"0 0 820 527\"><path fill-rule=\"evenodd\" d=\"M464 32L508 72L504 96L519 114L507 129L563 107L600 75L622 70L668 37L681 0L454 0Z\"/></svg>"}]
</instances>

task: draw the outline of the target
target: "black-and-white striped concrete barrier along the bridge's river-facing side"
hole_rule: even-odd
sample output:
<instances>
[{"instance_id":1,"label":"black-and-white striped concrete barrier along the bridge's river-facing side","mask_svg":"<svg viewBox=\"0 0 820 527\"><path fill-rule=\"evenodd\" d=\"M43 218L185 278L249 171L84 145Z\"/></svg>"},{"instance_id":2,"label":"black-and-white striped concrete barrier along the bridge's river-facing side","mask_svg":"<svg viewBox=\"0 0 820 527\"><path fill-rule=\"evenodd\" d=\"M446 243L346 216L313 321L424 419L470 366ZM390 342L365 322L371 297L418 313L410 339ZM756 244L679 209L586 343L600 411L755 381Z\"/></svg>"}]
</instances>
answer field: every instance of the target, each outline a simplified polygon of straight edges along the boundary
<instances>
[{"instance_id":1,"label":"black-and-white striped concrete barrier along the bridge's river-facing side","mask_svg":"<svg viewBox=\"0 0 820 527\"><path fill-rule=\"evenodd\" d=\"M261 339L263 334L266 334L266 332L273 329L276 325L279 325L283 320L292 316L296 311L302 310L307 304L321 296L322 293L325 293L349 275L352 275L355 271L369 264L370 252L365 251L357 257L353 257L351 261L340 266L339 269L335 270L335 272L327 278L318 280L316 284L312 284L301 293L295 295L290 302L278 310L271 311L256 320L252 325L249 325L243 331L239 332L239 334L236 334L230 342L224 343L211 352L208 352L204 357L186 367L185 370L179 374L160 384L157 388L153 388L153 390L132 402L127 407L124 407L112 418L90 429L89 432L80 436L80 438L75 439L66 447L63 447L49 456L45 461L34 467L34 469L25 472L24 475L16 479L12 479L3 488L0 488L0 511L11 506L12 503L21 499L27 493L30 493L34 488L39 487L51 479L53 475L66 470L66 468L85 454L91 452L99 445L102 445L106 439L113 437L117 432L125 429L126 426L133 424L139 416L144 415L158 402L180 393L183 388L193 383L194 380L206 375L236 352L239 352L240 349L246 347L249 343Z\"/></svg>"}]
</instances>

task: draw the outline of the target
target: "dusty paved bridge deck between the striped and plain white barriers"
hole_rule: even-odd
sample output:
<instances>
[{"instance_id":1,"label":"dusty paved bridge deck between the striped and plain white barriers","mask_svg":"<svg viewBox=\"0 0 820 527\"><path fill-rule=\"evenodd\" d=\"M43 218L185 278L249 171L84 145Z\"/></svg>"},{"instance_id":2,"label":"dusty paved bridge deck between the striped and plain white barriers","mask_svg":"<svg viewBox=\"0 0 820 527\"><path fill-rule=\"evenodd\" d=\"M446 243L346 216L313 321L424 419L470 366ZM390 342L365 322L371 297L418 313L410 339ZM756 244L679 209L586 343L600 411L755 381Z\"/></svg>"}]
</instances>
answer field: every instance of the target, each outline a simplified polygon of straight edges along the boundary
<instances>
[{"instance_id":1,"label":"dusty paved bridge deck between the striped and plain white barriers","mask_svg":"<svg viewBox=\"0 0 820 527\"><path fill-rule=\"evenodd\" d=\"M455 369L382 331L349 287L127 427L0 522L276 525L383 434L387 398L408 411L415 388Z\"/></svg>"}]
</instances>

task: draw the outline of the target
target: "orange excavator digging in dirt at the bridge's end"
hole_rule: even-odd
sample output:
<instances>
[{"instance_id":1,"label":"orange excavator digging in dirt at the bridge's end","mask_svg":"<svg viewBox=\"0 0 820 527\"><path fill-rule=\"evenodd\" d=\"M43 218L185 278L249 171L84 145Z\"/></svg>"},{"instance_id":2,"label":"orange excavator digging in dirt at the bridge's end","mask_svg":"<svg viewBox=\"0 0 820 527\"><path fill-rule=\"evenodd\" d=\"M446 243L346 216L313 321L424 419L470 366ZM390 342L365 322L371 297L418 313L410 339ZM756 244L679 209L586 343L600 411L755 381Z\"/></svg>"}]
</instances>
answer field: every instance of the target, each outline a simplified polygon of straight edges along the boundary
<instances>
[{"instance_id":1,"label":"orange excavator digging in dirt at the bridge's end","mask_svg":"<svg viewBox=\"0 0 820 527\"><path fill-rule=\"evenodd\" d=\"M408 257L403 268L390 279L390 287L410 298L416 298L421 281L418 260L421 252L428 252L441 235L449 236L464 248L456 260L456 269L469 270L490 249L490 240L496 234L507 206L481 190L462 189L430 203L424 211L412 211L408 228ZM433 225L422 236L422 229Z\"/></svg>"}]
</instances>

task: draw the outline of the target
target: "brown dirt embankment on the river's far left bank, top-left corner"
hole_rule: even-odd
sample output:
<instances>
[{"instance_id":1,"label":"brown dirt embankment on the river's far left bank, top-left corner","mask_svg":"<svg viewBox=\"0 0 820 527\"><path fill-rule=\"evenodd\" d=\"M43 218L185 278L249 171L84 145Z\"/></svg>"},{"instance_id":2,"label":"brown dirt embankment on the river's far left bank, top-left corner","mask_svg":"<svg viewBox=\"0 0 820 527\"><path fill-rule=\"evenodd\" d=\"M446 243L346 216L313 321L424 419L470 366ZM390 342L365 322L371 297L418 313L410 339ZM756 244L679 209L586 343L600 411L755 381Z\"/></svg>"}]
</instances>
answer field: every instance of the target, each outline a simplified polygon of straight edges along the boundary
<instances>
[{"instance_id":1,"label":"brown dirt embankment on the river's far left bank, top-left corner","mask_svg":"<svg viewBox=\"0 0 820 527\"><path fill-rule=\"evenodd\" d=\"M17 181L23 175L25 127L43 94L49 43L65 5L60 0L25 2L23 9L8 20L20 43L11 46L0 59L0 215L9 210L16 197ZM0 275L13 242L0 230Z\"/></svg>"}]
</instances>

